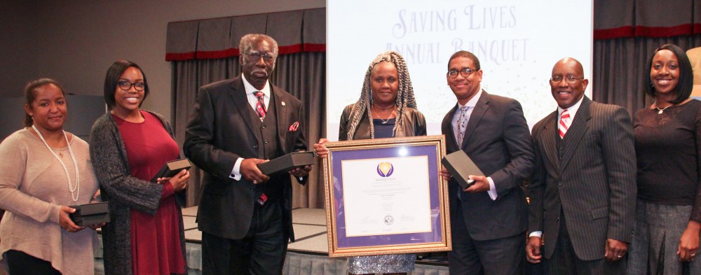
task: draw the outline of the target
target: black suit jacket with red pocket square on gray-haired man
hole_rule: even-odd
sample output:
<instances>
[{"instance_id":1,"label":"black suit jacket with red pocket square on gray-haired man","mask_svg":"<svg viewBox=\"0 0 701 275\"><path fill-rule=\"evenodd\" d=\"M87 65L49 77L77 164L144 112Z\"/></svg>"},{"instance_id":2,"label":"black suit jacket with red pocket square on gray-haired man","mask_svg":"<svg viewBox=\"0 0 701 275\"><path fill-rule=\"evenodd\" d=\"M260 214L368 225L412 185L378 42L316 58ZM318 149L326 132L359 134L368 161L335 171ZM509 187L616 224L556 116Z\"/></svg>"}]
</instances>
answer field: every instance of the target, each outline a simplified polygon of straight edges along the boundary
<instances>
[{"instance_id":1,"label":"black suit jacket with red pocket square on gray-haired man","mask_svg":"<svg viewBox=\"0 0 701 275\"><path fill-rule=\"evenodd\" d=\"M280 151L287 154L306 150L301 101L280 87L273 85L271 90L276 103ZM261 158L258 155L261 132L254 127L251 111L241 76L211 83L200 87L185 132L185 155L205 171L198 228L227 239L245 237L257 199L252 182L243 177L240 181L229 178L239 157ZM297 129L290 127L294 122L299 122ZM273 176L270 181L284 186L283 224L287 232L283 233L294 241L291 178L284 174Z\"/></svg>"}]
</instances>

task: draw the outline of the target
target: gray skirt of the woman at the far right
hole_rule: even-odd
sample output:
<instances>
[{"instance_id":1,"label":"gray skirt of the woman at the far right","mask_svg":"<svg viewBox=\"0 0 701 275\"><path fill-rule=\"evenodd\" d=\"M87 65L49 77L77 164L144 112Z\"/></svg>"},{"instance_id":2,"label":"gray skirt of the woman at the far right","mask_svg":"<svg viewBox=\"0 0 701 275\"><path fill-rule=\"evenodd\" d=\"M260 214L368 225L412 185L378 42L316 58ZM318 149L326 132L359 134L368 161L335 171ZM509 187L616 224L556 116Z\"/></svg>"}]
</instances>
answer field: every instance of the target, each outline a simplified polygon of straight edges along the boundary
<instances>
[{"instance_id":1,"label":"gray skirt of the woman at the far right","mask_svg":"<svg viewBox=\"0 0 701 275\"><path fill-rule=\"evenodd\" d=\"M626 274L701 275L700 260L679 262L679 255L676 255L692 208L638 199Z\"/></svg>"}]
</instances>

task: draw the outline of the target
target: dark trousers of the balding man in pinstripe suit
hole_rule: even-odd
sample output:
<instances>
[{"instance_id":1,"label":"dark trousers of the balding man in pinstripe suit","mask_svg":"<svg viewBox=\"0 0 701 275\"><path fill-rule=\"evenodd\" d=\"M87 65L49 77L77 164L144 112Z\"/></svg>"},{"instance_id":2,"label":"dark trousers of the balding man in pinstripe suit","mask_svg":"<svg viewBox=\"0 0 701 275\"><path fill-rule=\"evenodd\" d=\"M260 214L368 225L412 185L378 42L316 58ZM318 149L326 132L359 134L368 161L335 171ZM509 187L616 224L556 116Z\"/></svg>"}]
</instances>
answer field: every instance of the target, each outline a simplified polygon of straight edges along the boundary
<instances>
[{"instance_id":1,"label":"dark trousers of the balding man in pinstripe suit","mask_svg":"<svg viewBox=\"0 0 701 275\"><path fill-rule=\"evenodd\" d=\"M548 244L553 245L553 244ZM601 257L604 256L606 243L601 244ZM572 241L565 223L564 213L560 213L560 228L557 233L557 243L552 258L547 260L548 274L576 274L576 275L615 275L625 274L628 255L615 262L608 262L606 258L599 260L580 260L574 251ZM541 248L542 251L542 248Z\"/></svg>"}]
</instances>

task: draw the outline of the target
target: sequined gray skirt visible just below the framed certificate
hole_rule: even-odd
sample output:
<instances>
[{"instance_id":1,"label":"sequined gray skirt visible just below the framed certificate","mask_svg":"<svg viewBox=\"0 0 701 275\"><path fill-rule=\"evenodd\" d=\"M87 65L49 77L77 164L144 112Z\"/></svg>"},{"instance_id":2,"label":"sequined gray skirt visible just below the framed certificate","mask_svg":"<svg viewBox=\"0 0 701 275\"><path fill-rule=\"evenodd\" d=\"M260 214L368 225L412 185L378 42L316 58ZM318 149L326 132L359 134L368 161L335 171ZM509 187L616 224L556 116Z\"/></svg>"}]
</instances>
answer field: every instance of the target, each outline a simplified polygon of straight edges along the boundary
<instances>
[{"instance_id":1,"label":"sequined gray skirt visible just below the framed certificate","mask_svg":"<svg viewBox=\"0 0 701 275\"><path fill-rule=\"evenodd\" d=\"M414 271L416 254L372 255L348 258L348 273L375 274Z\"/></svg>"}]
</instances>

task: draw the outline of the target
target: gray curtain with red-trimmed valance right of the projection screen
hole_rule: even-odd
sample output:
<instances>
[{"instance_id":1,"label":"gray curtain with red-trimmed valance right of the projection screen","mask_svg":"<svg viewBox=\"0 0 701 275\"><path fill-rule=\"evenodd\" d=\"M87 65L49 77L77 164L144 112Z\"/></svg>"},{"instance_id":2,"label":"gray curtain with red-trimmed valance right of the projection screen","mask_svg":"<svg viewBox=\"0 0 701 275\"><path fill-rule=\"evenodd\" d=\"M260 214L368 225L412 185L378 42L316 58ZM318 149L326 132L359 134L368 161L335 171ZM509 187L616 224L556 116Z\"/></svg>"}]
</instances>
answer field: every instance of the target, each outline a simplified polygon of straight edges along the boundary
<instances>
[{"instance_id":1,"label":"gray curtain with red-trimmed valance right of the projection screen","mask_svg":"<svg viewBox=\"0 0 701 275\"><path fill-rule=\"evenodd\" d=\"M644 67L667 43L701 46L701 0L595 0L593 99L631 115L650 105Z\"/></svg>"}]
</instances>

